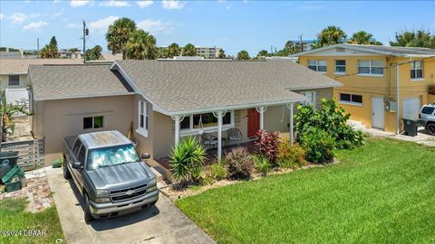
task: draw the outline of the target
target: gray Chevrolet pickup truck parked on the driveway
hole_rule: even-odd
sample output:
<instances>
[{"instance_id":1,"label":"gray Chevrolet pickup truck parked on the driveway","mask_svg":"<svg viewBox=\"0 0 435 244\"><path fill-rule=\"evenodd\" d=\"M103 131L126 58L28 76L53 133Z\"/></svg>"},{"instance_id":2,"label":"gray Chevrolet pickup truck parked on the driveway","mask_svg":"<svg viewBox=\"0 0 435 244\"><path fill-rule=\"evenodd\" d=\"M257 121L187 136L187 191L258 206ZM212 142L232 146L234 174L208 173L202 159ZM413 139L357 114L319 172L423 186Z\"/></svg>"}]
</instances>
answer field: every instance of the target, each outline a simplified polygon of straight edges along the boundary
<instances>
[{"instance_id":1,"label":"gray Chevrolet pickup truck parked on the driveway","mask_svg":"<svg viewBox=\"0 0 435 244\"><path fill-rule=\"evenodd\" d=\"M64 139L63 177L84 198L85 221L139 211L159 200L156 176L131 141L118 131Z\"/></svg>"}]
</instances>

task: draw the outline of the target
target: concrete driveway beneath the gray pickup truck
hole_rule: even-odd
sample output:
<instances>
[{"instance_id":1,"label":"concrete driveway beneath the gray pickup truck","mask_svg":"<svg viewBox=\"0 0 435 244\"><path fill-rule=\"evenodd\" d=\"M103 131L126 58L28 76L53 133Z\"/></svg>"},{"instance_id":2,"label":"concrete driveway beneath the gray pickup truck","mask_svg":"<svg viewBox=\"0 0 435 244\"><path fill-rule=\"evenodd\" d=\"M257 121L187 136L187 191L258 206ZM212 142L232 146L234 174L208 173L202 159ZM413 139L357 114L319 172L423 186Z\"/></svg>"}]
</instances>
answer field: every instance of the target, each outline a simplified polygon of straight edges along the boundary
<instances>
[{"instance_id":1,"label":"concrete driveway beneath the gray pickup truck","mask_svg":"<svg viewBox=\"0 0 435 244\"><path fill-rule=\"evenodd\" d=\"M215 243L162 194L149 209L86 223L74 183L62 169L47 167L46 174L68 243Z\"/></svg>"}]
</instances>

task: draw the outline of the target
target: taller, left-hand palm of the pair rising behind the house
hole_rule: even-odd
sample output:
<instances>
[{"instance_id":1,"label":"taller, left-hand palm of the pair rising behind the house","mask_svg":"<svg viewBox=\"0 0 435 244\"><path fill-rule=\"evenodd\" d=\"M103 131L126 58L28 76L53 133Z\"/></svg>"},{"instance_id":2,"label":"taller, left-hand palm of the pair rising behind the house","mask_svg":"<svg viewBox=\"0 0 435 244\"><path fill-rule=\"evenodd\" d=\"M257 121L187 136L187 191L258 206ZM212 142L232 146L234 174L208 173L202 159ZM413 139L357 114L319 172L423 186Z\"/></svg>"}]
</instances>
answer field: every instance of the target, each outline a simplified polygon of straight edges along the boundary
<instances>
[{"instance_id":1,"label":"taller, left-hand palm of the pair rising behind the house","mask_svg":"<svg viewBox=\"0 0 435 244\"><path fill-rule=\"evenodd\" d=\"M120 18L109 25L106 33L107 48L111 53L122 53L122 59L126 59L125 45L129 42L131 33L136 30L136 23L129 18Z\"/></svg>"}]
</instances>

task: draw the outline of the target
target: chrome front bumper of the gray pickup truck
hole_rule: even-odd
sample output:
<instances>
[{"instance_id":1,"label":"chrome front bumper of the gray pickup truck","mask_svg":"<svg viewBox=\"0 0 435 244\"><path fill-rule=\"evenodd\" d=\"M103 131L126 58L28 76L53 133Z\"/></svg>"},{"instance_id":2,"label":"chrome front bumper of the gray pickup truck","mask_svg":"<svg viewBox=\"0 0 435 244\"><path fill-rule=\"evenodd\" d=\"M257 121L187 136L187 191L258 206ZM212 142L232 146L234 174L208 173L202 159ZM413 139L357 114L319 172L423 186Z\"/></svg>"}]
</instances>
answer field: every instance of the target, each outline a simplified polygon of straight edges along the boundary
<instances>
[{"instance_id":1,"label":"chrome front bumper of the gray pickup truck","mask_svg":"<svg viewBox=\"0 0 435 244\"><path fill-rule=\"evenodd\" d=\"M114 212L121 211L137 211L144 205L148 205L159 200L159 190L148 192L145 195L131 199L125 202L104 202L96 203L90 201L92 215L98 217L99 215L110 215Z\"/></svg>"}]
</instances>

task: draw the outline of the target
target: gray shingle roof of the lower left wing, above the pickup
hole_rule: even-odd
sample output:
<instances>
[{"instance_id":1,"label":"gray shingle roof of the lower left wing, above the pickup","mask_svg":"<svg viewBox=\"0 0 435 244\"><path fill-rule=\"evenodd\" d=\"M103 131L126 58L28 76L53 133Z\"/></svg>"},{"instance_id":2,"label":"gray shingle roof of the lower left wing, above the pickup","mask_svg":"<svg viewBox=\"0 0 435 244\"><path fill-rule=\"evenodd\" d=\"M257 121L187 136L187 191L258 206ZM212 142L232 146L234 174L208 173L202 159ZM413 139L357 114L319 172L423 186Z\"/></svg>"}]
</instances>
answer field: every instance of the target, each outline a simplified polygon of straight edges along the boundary
<instances>
[{"instance_id":1,"label":"gray shingle roof of the lower left wing, above the pickup","mask_svg":"<svg viewBox=\"0 0 435 244\"><path fill-rule=\"evenodd\" d=\"M108 64L31 65L29 77L34 100L104 97L133 91Z\"/></svg>"}]
</instances>

